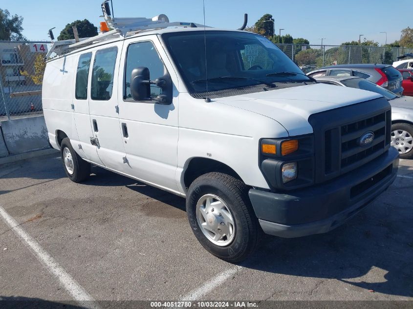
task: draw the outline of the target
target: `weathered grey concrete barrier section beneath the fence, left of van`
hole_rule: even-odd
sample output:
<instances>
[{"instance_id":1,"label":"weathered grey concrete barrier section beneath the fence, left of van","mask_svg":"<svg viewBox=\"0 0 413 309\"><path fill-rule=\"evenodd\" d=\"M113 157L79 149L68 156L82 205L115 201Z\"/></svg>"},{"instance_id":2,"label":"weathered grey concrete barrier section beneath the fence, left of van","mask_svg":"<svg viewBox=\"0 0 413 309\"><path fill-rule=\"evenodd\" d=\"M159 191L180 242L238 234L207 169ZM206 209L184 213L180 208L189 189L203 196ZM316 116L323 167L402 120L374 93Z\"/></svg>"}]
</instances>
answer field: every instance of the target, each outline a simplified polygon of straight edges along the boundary
<instances>
[{"instance_id":1,"label":"weathered grey concrete barrier section beneath the fence, left of van","mask_svg":"<svg viewBox=\"0 0 413 309\"><path fill-rule=\"evenodd\" d=\"M0 125L8 155L50 148L43 116L1 121Z\"/></svg>"}]
</instances>

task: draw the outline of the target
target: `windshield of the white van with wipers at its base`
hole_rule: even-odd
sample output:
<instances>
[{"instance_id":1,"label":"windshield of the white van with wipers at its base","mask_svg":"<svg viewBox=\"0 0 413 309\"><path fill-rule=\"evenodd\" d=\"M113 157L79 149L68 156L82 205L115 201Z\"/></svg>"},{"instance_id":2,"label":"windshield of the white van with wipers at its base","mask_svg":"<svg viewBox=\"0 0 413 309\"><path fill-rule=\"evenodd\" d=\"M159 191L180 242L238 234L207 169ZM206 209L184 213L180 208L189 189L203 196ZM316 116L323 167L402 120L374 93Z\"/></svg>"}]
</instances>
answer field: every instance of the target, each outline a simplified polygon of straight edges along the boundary
<instances>
[{"instance_id":1,"label":"windshield of the white van with wipers at its base","mask_svg":"<svg viewBox=\"0 0 413 309\"><path fill-rule=\"evenodd\" d=\"M224 97L276 89L277 83L311 82L260 35L208 30L204 37L201 30L165 33L162 38L189 92L196 97L205 97L207 90L210 97Z\"/></svg>"}]
</instances>

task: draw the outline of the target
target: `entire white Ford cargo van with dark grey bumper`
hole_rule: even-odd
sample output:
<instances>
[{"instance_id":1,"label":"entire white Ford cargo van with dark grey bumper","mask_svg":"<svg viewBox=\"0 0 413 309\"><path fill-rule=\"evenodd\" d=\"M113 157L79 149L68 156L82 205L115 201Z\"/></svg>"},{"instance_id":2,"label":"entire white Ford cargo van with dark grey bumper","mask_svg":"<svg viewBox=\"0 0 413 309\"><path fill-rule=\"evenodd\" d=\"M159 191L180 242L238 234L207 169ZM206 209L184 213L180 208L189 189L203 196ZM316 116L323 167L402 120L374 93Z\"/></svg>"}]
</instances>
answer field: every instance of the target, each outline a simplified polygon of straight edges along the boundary
<instances>
[{"instance_id":1,"label":"entire white Ford cargo van with dark grey bumper","mask_svg":"<svg viewBox=\"0 0 413 309\"><path fill-rule=\"evenodd\" d=\"M327 232L393 182L385 98L314 82L260 35L167 25L54 49L44 117L72 181L93 164L186 197L196 238L230 262L261 231Z\"/></svg>"}]
</instances>

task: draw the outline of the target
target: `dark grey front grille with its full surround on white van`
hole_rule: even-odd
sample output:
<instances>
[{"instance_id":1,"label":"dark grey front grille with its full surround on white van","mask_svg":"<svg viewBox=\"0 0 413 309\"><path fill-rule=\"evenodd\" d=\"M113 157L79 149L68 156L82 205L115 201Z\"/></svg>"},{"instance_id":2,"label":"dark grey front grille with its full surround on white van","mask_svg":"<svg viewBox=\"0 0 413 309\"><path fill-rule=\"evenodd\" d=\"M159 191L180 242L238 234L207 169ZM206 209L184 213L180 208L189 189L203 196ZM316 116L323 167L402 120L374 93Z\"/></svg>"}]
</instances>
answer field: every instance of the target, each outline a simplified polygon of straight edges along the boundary
<instances>
[{"instance_id":1,"label":"dark grey front grille with its full surround on white van","mask_svg":"<svg viewBox=\"0 0 413 309\"><path fill-rule=\"evenodd\" d=\"M390 148L391 107L384 98L313 114L316 184L324 183L365 165ZM368 146L360 138L374 133Z\"/></svg>"}]
</instances>

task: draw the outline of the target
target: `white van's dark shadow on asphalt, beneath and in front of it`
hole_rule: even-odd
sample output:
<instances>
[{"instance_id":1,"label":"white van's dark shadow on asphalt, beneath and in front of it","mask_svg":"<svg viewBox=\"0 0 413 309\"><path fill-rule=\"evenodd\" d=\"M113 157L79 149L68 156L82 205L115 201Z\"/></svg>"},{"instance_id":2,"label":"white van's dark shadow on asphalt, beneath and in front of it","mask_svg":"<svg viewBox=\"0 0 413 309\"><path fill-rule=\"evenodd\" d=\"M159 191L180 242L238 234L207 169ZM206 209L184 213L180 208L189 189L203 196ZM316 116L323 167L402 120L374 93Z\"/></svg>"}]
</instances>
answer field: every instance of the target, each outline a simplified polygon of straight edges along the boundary
<instances>
[{"instance_id":1,"label":"white van's dark shadow on asphalt, beneath and in front of it","mask_svg":"<svg viewBox=\"0 0 413 309\"><path fill-rule=\"evenodd\" d=\"M401 166L401 169L403 167ZM161 203L185 211L185 200L174 194L94 167L87 185L125 185ZM346 225L326 233L283 239L264 235L258 250L240 263L270 273L337 279L343 283L391 295L413 296L413 212L392 201L391 188ZM409 228L410 227L410 228Z\"/></svg>"}]
</instances>

